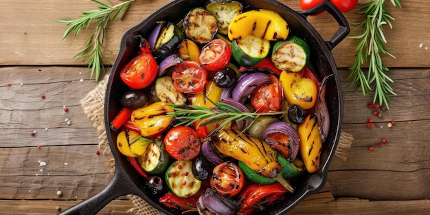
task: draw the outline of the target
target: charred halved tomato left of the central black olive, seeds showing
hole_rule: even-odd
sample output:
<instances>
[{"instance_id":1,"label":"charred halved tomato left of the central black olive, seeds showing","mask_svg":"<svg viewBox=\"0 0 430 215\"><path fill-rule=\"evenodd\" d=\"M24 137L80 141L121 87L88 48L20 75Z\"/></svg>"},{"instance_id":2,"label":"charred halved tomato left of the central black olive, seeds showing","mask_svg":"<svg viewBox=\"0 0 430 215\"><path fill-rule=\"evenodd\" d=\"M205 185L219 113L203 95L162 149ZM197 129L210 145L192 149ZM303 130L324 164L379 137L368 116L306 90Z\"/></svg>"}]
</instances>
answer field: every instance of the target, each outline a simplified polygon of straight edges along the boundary
<instances>
[{"instance_id":1,"label":"charred halved tomato left of the central black olive, seeds showing","mask_svg":"<svg viewBox=\"0 0 430 215\"><path fill-rule=\"evenodd\" d=\"M207 71L192 60L174 66L173 86L181 93L201 93L206 84Z\"/></svg>"}]
</instances>

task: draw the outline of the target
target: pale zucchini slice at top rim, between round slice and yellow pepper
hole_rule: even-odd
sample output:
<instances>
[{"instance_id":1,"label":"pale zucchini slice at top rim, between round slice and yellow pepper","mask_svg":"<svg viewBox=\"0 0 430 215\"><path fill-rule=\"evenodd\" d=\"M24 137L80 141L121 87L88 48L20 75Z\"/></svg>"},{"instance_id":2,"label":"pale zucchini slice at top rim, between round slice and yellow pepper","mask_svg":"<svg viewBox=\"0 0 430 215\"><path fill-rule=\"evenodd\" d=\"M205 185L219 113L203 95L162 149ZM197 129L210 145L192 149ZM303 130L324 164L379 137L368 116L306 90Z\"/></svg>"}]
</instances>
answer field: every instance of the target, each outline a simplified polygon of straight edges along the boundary
<instances>
[{"instance_id":1,"label":"pale zucchini slice at top rim, between round slice and yellow pepper","mask_svg":"<svg viewBox=\"0 0 430 215\"><path fill-rule=\"evenodd\" d=\"M210 1L206 5L206 10L215 16L218 23L218 33L227 35L231 21L242 13L243 5L238 1Z\"/></svg>"}]
</instances>

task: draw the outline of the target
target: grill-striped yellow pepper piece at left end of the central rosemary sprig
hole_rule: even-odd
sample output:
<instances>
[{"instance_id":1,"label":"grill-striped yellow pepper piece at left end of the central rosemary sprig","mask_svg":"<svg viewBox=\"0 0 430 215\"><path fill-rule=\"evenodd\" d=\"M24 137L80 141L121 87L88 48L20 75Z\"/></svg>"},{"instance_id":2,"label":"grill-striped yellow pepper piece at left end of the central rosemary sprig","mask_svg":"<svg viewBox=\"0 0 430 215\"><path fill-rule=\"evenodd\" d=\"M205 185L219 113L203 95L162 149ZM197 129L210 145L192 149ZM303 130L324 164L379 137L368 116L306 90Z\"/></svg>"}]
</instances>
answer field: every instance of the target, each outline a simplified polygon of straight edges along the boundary
<instances>
[{"instance_id":1,"label":"grill-striped yellow pepper piece at left end of the central rosemary sprig","mask_svg":"<svg viewBox=\"0 0 430 215\"><path fill-rule=\"evenodd\" d=\"M154 102L142 109L136 109L131 113L131 122L136 128L139 128L141 135L144 137L153 137L166 131L168 126L173 122L174 117L166 115L174 110L167 106L168 102Z\"/></svg>"}]
</instances>

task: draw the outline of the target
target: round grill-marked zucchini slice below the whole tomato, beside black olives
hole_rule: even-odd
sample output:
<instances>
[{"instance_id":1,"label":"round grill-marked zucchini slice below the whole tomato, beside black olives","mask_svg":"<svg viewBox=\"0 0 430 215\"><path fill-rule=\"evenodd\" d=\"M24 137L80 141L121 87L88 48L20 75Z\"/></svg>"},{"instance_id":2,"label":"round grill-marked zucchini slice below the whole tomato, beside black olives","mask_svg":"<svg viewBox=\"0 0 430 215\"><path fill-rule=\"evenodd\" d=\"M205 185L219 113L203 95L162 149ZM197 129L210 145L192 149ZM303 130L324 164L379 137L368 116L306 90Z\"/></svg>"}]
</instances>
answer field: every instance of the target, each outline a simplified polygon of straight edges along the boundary
<instances>
[{"instance_id":1,"label":"round grill-marked zucchini slice below the whole tomato, beside black olives","mask_svg":"<svg viewBox=\"0 0 430 215\"><path fill-rule=\"evenodd\" d=\"M174 161L165 177L169 190L182 198L193 196L201 188L201 181L192 174L192 161Z\"/></svg>"}]
</instances>

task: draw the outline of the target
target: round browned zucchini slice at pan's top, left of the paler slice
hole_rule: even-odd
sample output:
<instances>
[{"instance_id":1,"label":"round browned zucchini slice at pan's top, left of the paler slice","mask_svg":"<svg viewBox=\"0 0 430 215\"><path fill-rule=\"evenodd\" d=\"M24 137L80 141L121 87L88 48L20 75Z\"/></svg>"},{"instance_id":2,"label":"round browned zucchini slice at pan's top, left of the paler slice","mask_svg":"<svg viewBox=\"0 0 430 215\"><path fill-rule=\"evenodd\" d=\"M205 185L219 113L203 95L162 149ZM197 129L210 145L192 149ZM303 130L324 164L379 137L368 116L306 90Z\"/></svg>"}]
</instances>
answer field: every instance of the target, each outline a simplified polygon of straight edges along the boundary
<instances>
[{"instance_id":1,"label":"round browned zucchini slice at pan's top, left of the paler slice","mask_svg":"<svg viewBox=\"0 0 430 215\"><path fill-rule=\"evenodd\" d=\"M196 43L207 43L218 32L218 23L205 8L194 8L183 19L183 32Z\"/></svg>"}]
</instances>

